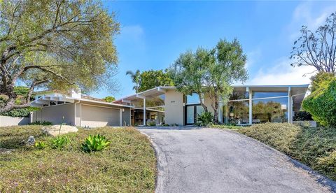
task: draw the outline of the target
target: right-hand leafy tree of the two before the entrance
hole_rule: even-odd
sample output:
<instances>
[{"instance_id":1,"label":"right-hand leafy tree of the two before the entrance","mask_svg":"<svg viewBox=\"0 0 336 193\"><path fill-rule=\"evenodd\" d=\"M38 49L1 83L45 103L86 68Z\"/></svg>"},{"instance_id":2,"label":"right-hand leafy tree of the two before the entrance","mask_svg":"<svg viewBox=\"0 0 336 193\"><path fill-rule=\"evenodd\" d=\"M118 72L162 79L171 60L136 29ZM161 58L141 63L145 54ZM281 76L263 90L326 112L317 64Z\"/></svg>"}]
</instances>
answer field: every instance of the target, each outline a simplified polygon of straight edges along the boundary
<instances>
[{"instance_id":1,"label":"right-hand leafy tree of the two before the entrance","mask_svg":"<svg viewBox=\"0 0 336 193\"><path fill-rule=\"evenodd\" d=\"M227 101L232 93L231 85L247 78L246 55L237 39L232 42L221 40L210 52L209 73L204 86L211 98L214 109L214 122L218 122L218 107L220 101Z\"/></svg>"}]
</instances>

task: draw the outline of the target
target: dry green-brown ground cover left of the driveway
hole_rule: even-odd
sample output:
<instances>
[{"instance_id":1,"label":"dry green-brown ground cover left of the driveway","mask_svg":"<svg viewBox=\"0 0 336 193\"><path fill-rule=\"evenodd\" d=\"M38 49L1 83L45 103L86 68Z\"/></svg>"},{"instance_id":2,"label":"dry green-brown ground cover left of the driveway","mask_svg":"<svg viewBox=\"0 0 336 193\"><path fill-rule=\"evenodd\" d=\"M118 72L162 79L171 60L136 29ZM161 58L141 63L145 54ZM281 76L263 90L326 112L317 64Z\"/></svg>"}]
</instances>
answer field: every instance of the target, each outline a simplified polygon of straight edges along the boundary
<instances>
[{"instance_id":1,"label":"dry green-brown ground cover left of the driveway","mask_svg":"<svg viewBox=\"0 0 336 193\"><path fill-rule=\"evenodd\" d=\"M0 192L154 192L155 152L148 138L132 128L109 127L66 134L63 150L27 147L31 135L50 145L38 125L0 127ZM102 152L85 153L81 143L89 134L111 141Z\"/></svg>"}]
</instances>

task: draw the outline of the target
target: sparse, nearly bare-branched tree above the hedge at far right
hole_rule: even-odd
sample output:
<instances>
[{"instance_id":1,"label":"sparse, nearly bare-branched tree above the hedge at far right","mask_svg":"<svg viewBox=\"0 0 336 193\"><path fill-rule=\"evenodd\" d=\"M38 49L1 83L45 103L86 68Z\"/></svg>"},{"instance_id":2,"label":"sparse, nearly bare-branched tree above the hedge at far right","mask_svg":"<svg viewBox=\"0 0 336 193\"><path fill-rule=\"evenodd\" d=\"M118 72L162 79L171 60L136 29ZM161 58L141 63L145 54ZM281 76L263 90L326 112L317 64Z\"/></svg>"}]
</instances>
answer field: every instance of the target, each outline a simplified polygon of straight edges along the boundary
<instances>
[{"instance_id":1,"label":"sparse, nearly bare-branched tree above the hedge at far right","mask_svg":"<svg viewBox=\"0 0 336 193\"><path fill-rule=\"evenodd\" d=\"M336 12L315 33L302 26L302 36L294 42L291 66L314 66L315 71L336 73Z\"/></svg>"}]
</instances>

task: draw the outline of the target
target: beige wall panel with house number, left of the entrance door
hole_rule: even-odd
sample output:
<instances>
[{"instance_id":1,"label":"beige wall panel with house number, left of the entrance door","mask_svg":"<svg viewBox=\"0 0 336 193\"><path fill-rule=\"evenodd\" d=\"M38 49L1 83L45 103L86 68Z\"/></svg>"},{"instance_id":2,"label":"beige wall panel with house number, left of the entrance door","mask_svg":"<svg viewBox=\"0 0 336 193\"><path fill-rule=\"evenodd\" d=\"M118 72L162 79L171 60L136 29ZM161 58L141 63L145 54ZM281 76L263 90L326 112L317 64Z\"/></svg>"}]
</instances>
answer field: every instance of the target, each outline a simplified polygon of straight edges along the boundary
<instances>
[{"instance_id":1,"label":"beige wall panel with house number, left of the entrance door","mask_svg":"<svg viewBox=\"0 0 336 193\"><path fill-rule=\"evenodd\" d=\"M175 90L165 94L165 123L184 125L183 94Z\"/></svg>"}]
</instances>

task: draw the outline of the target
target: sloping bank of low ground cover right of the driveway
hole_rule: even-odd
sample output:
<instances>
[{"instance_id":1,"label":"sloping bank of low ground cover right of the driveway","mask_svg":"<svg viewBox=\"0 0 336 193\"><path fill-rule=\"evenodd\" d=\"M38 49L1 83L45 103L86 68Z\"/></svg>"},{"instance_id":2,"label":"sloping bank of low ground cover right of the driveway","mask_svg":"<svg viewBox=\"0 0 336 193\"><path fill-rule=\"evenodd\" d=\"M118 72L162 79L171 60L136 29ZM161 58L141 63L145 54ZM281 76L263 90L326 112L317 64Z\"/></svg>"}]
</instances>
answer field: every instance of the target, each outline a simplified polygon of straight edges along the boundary
<instances>
[{"instance_id":1,"label":"sloping bank of low ground cover right of the driveway","mask_svg":"<svg viewBox=\"0 0 336 193\"><path fill-rule=\"evenodd\" d=\"M266 123L239 129L238 132L270 145L336 180L335 128L304 128L288 123Z\"/></svg>"}]
</instances>

